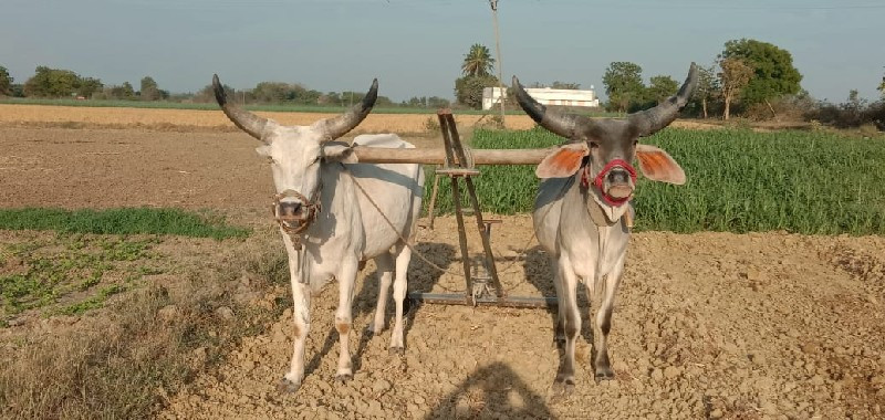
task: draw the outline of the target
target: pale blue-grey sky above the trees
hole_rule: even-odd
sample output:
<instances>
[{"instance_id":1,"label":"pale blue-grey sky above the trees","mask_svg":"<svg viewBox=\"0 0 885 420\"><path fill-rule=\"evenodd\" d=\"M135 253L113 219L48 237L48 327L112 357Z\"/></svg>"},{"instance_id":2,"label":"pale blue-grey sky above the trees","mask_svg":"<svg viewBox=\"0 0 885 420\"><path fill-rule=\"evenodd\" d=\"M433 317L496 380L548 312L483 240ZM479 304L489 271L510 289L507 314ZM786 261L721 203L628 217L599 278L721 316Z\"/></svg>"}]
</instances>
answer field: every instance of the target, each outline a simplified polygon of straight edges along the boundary
<instances>
[{"instance_id":1,"label":"pale blue-grey sky above the trees","mask_svg":"<svg viewBox=\"0 0 885 420\"><path fill-rule=\"evenodd\" d=\"M34 67L69 69L105 85L149 75L195 92L218 73L235 88L261 81L322 92L452 98L472 43L494 54L487 0L3 0L0 65L17 83ZM790 51L814 97L848 90L875 99L885 73L882 0L500 0L506 81L594 85L613 61L681 82L726 41ZM497 70L496 70L497 72Z\"/></svg>"}]
</instances>

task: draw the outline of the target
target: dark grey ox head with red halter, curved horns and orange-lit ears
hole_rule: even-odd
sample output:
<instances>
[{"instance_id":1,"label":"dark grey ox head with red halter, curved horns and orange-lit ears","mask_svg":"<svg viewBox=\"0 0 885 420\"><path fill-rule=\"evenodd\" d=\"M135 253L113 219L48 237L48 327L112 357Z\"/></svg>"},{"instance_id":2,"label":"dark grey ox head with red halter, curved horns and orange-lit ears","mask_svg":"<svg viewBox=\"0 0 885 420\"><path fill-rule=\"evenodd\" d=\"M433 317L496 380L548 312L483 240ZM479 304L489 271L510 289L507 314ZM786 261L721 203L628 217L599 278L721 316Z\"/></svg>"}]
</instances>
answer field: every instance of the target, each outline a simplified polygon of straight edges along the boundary
<instances>
[{"instance_id":1,"label":"dark grey ox head with red halter, curved horns and orange-lit ears","mask_svg":"<svg viewBox=\"0 0 885 420\"><path fill-rule=\"evenodd\" d=\"M539 178L563 178L583 170L582 179L595 187L611 206L621 206L633 197L636 169L631 165L638 158L647 178L670 183L684 183L685 172L664 150L639 145L639 138L666 127L685 106L697 81L691 64L689 75L676 96L655 108L631 114L626 119L591 119L579 115L559 115L534 101L513 77L517 99L529 116L544 128L565 137L569 143L550 154L538 166Z\"/></svg>"}]
</instances>

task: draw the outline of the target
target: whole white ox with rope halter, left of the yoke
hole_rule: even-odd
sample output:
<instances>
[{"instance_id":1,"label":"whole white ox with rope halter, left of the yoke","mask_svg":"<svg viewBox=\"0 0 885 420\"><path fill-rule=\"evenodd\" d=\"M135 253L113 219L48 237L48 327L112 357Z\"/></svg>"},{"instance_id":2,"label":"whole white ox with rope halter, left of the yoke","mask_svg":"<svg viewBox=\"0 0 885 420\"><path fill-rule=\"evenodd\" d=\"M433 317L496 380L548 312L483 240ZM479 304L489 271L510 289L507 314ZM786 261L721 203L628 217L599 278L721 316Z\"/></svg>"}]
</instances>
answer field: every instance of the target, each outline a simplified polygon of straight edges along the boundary
<instances>
[{"instance_id":1,"label":"whole white ox with rope halter, left of the yoke","mask_svg":"<svg viewBox=\"0 0 885 420\"><path fill-rule=\"evenodd\" d=\"M402 353L406 269L412 259L403 239L410 240L416 231L424 171L417 164L357 164L351 145L334 141L372 111L377 98L377 80L348 112L310 126L282 126L238 108L228 103L217 75L212 85L218 105L228 118L261 140L257 150L270 161L277 187L273 212L289 254L295 324L292 363L280 389L295 391L304 379L311 293L332 280L339 282L335 329L341 344L335 378L341 381L353 378L348 345L353 291L356 274L368 259L375 260L381 276L375 317L368 329L371 333L384 329L387 293L395 271L396 318L391 350ZM393 134L362 135L353 143L382 148L414 147Z\"/></svg>"}]
</instances>

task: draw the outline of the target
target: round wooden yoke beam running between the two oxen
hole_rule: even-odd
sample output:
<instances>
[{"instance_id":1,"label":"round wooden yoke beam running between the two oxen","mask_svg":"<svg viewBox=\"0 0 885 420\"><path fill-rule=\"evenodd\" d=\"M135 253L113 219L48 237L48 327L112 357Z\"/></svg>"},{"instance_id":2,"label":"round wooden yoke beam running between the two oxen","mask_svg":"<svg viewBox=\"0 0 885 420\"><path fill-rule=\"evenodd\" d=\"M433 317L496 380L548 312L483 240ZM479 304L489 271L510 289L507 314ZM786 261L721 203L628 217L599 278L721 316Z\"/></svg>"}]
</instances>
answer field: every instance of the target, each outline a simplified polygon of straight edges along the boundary
<instances>
[{"instance_id":1,"label":"round wooden yoke beam running between the two oxen","mask_svg":"<svg viewBox=\"0 0 885 420\"><path fill-rule=\"evenodd\" d=\"M356 146L356 157L365 164L442 165L446 151L439 149L385 149ZM554 148L546 149L471 149L475 165L538 165Z\"/></svg>"}]
</instances>

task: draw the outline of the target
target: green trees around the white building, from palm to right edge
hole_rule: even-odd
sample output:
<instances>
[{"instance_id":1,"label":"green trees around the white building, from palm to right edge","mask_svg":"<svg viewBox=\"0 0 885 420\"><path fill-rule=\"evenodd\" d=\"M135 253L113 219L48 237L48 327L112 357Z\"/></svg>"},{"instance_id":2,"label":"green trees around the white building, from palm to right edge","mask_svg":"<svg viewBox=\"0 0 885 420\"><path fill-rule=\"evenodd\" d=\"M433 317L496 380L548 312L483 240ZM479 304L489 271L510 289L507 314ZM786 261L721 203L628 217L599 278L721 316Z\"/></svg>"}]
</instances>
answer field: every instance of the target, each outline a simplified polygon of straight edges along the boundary
<instances>
[{"instance_id":1,"label":"green trees around the white building, from palm to right edge","mask_svg":"<svg viewBox=\"0 0 885 420\"><path fill-rule=\"evenodd\" d=\"M480 108L482 90L500 86L492 75L494 59L489 49L473 44L461 62L461 77L455 81L458 104ZM876 102L858 98L851 91L842 104L815 101L802 88L802 74L793 65L792 54L772 43L740 39L725 43L710 65L701 65L698 85L683 115L701 118L735 115L754 120L816 120L837 127L874 124L885 130L885 76L877 87L883 97ZM608 101L608 112L633 113L656 106L674 95L679 83L669 75L654 75L648 85L643 69L632 62L613 62L602 78ZM504 84L506 86L508 84ZM531 87L544 84L532 83ZM576 83L553 82L556 88L580 88ZM508 88L508 105L513 107Z\"/></svg>"}]
</instances>

